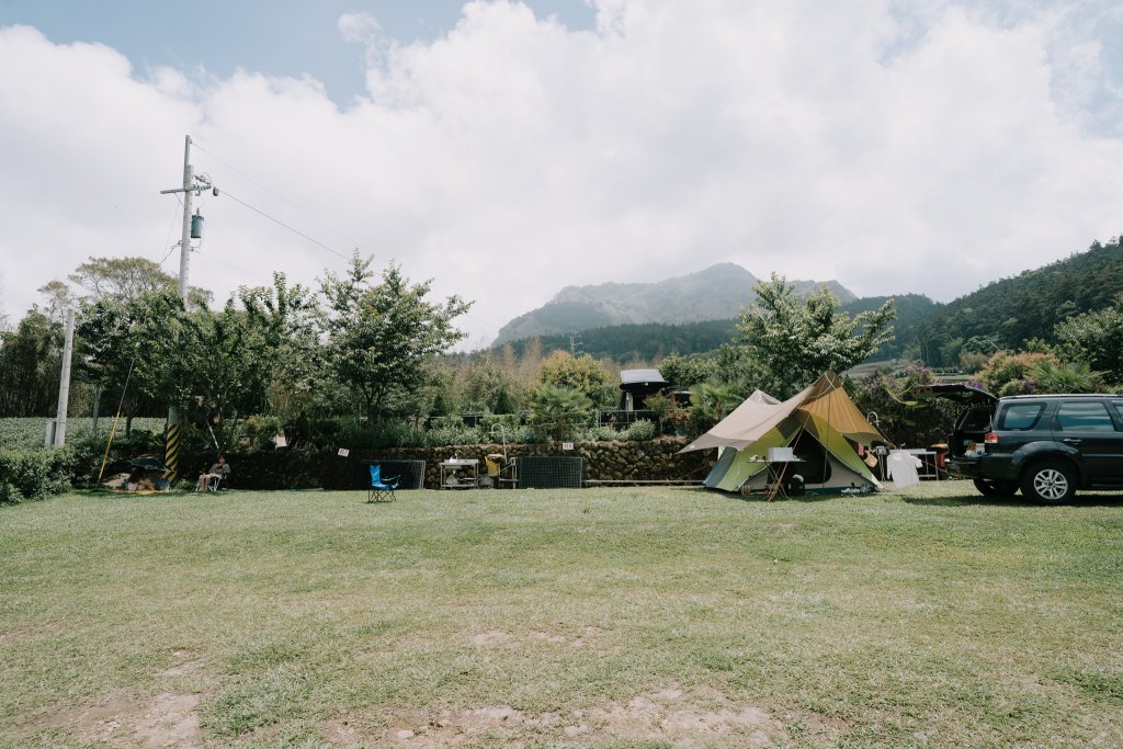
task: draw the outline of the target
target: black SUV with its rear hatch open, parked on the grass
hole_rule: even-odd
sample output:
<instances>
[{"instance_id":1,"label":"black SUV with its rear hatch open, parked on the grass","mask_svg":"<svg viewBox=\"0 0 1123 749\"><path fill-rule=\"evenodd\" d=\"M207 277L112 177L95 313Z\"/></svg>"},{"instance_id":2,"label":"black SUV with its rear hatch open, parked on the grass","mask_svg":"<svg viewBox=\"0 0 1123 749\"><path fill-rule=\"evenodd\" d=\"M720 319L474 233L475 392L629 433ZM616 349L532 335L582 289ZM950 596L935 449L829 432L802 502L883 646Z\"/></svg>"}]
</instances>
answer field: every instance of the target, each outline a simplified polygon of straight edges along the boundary
<instances>
[{"instance_id":1,"label":"black SUV with its rear hatch open, parked on the grass","mask_svg":"<svg viewBox=\"0 0 1123 749\"><path fill-rule=\"evenodd\" d=\"M917 394L966 408L948 439L948 469L987 496L1066 502L1078 488L1123 488L1123 395L995 398L969 385Z\"/></svg>"}]
</instances>

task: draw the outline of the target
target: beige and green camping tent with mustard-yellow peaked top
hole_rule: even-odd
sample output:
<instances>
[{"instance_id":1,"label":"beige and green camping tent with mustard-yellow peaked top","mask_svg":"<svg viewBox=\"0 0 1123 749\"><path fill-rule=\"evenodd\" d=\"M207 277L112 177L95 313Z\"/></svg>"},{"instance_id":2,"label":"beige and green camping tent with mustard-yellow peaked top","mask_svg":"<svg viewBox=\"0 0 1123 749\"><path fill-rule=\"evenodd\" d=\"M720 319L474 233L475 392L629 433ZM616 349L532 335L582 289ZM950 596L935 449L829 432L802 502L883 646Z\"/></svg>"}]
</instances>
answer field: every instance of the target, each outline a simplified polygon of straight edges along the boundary
<instances>
[{"instance_id":1,"label":"beige and green camping tent with mustard-yellow peaked top","mask_svg":"<svg viewBox=\"0 0 1123 749\"><path fill-rule=\"evenodd\" d=\"M755 392L682 451L722 448L705 485L736 492L745 484L764 491L768 448L792 448L798 463L788 473L797 473L807 490L832 491L879 486L855 448L875 440L885 438L858 411L839 376L827 372L784 402Z\"/></svg>"}]
</instances>

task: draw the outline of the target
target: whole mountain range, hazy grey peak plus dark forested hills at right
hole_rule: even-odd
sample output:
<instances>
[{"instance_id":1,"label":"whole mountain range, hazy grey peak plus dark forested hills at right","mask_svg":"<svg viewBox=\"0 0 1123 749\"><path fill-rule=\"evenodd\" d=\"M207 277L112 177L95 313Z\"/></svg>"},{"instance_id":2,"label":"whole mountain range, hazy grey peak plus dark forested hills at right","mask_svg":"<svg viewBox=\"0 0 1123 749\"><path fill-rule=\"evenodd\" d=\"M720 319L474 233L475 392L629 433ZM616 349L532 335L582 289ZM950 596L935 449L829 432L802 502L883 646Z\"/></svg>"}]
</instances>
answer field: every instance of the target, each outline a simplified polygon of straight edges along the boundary
<instances>
[{"instance_id":1,"label":"whole mountain range, hazy grey peak plus dark forested hills at right","mask_svg":"<svg viewBox=\"0 0 1123 749\"><path fill-rule=\"evenodd\" d=\"M651 360L665 354L704 353L730 342L740 310L752 301L756 276L730 263L652 284L600 284L562 290L549 303L503 327L500 340L518 351L537 337L541 349L579 348L596 358ZM837 282L795 282L807 293L828 286L857 314L889 296L856 299ZM894 294L895 340L874 358L905 357L956 367L960 353L1016 350L1034 338L1050 341L1057 323L1102 310L1123 294L1123 238L1095 241L1049 265L993 281L947 304L923 294ZM581 334L578 339L566 334Z\"/></svg>"}]
</instances>

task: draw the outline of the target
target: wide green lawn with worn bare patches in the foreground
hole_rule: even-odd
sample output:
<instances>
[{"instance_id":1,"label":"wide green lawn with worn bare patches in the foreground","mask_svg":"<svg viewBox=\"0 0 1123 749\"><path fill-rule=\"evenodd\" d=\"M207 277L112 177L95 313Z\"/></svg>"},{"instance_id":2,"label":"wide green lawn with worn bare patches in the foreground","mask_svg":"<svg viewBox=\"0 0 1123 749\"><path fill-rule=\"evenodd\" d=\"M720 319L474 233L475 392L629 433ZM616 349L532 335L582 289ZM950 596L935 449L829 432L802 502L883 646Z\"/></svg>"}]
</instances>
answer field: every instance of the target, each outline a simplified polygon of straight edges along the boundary
<instances>
[{"instance_id":1,"label":"wide green lawn with worn bare patches in the foreground","mask_svg":"<svg viewBox=\"0 0 1123 749\"><path fill-rule=\"evenodd\" d=\"M1123 746L1123 495L364 501L0 509L0 746Z\"/></svg>"}]
</instances>

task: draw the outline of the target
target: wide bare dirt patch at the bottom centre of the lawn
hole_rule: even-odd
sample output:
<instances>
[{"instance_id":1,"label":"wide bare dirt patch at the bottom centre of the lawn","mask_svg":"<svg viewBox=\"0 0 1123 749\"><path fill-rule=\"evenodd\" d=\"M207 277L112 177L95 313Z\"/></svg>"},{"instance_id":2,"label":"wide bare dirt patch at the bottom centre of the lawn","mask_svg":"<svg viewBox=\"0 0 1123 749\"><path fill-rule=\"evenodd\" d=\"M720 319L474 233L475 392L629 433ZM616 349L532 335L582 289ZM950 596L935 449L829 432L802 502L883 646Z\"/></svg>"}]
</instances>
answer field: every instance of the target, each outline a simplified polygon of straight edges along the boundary
<instances>
[{"instance_id":1,"label":"wide bare dirt patch at the bottom centre of the lawn","mask_svg":"<svg viewBox=\"0 0 1123 749\"><path fill-rule=\"evenodd\" d=\"M391 719L381 736L360 737L326 724L329 741L371 740L377 746L457 747L492 741L521 746L559 742L603 746L621 741L667 742L675 747L774 747L788 742L783 724L759 705L737 703L715 689L677 685L568 714L531 714L506 705L442 710L428 718Z\"/></svg>"}]
</instances>

